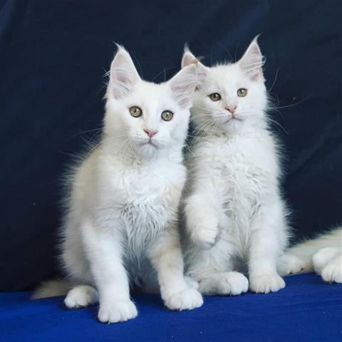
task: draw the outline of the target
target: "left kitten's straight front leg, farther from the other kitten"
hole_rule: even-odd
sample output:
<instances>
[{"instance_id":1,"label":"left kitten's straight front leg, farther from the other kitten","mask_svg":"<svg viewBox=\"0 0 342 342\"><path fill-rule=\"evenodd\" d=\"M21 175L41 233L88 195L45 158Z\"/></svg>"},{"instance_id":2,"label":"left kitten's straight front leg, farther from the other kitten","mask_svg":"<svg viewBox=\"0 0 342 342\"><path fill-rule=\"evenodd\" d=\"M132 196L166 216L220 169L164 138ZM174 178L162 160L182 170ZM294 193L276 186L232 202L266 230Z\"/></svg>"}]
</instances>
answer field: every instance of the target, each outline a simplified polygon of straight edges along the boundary
<instances>
[{"instance_id":1,"label":"left kitten's straight front leg, farther from the other kitten","mask_svg":"<svg viewBox=\"0 0 342 342\"><path fill-rule=\"evenodd\" d=\"M82 230L90 271L98 289L99 321L115 323L135 318L138 311L130 300L128 275L122 261L120 232L94 227L90 222L83 224Z\"/></svg>"}]
</instances>

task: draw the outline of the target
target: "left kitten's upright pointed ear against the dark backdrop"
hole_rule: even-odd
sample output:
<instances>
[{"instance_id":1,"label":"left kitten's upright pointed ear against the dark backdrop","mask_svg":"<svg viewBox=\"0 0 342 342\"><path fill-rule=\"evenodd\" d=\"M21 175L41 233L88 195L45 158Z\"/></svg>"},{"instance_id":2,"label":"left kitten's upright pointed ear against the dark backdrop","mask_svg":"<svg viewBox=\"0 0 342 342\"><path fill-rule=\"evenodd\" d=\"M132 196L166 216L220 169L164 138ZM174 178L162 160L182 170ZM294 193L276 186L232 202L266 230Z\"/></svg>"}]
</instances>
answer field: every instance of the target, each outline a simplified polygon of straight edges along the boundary
<instances>
[{"instance_id":1,"label":"left kitten's upright pointed ear against the dark backdrop","mask_svg":"<svg viewBox=\"0 0 342 342\"><path fill-rule=\"evenodd\" d=\"M137 69L134 66L130 54L118 45L118 51L115 54L110 66L110 80L108 84L108 98L123 98L128 95L136 83L141 80Z\"/></svg>"}]
</instances>

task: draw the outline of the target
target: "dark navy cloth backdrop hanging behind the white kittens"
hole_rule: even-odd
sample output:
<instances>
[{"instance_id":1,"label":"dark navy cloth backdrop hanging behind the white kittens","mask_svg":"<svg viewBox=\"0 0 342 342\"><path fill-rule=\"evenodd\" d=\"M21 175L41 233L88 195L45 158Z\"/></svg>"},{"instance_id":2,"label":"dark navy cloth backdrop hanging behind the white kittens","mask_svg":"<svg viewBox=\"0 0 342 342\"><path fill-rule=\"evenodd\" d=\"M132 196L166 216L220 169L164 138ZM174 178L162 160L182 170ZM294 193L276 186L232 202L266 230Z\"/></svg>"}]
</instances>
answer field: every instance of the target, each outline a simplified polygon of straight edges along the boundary
<instances>
[{"instance_id":1,"label":"dark navy cloth backdrop hanging behind the white kittens","mask_svg":"<svg viewBox=\"0 0 342 342\"><path fill-rule=\"evenodd\" d=\"M341 17L340 0L0 0L0 290L56 271L58 182L100 127L114 41L163 81L185 41L209 65L262 33L296 236L342 222Z\"/></svg>"}]
</instances>

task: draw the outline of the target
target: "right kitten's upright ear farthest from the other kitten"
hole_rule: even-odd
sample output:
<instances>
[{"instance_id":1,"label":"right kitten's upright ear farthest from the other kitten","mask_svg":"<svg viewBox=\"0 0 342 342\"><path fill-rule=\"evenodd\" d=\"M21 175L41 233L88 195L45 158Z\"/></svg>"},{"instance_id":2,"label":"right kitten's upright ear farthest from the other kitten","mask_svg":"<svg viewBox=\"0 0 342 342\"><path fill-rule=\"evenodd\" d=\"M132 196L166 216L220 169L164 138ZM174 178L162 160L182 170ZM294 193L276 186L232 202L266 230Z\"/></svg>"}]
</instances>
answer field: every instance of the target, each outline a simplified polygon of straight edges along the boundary
<instances>
[{"instance_id":1,"label":"right kitten's upright ear farthest from the other kitten","mask_svg":"<svg viewBox=\"0 0 342 342\"><path fill-rule=\"evenodd\" d=\"M257 81L263 78L262 66L264 65L264 57L257 42L259 36L256 36L252 43L250 43L244 56L237 62L242 71L252 80Z\"/></svg>"}]
</instances>

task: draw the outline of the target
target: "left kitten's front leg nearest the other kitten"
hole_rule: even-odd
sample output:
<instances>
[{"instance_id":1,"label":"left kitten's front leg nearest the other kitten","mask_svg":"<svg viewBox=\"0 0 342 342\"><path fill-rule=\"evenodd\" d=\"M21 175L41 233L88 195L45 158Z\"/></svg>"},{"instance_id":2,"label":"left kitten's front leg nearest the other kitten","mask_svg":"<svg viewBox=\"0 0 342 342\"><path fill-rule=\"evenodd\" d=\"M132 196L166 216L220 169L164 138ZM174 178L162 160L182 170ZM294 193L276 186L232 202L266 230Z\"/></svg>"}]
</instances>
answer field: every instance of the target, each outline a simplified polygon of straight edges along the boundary
<instances>
[{"instance_id":1,"label":"left kitten's front leg nearest the other kitten","mask_svg":"<svg viewBox=\"0 0 342 342\"><path fill-rule=\"evenodd\" d=\"M160 294L170 310L191 310L202 306L203 299L184 276L180 237L175 224L162 232L150 250L150 260L157 270Z\"/></svg>"}]
</instances>

